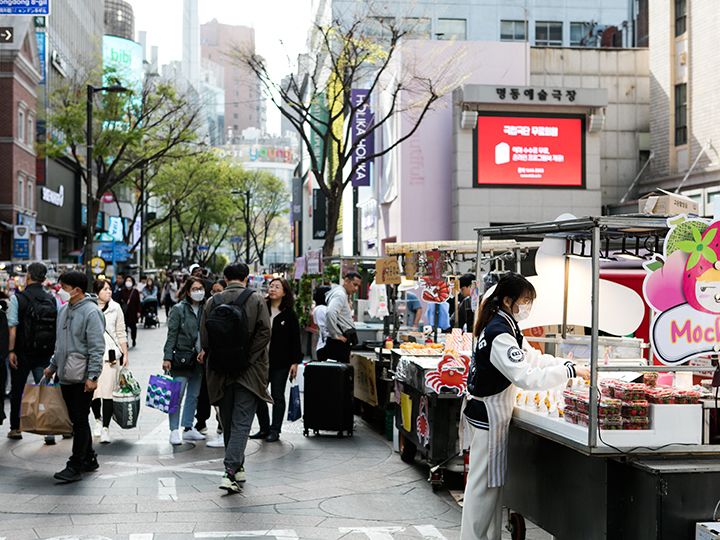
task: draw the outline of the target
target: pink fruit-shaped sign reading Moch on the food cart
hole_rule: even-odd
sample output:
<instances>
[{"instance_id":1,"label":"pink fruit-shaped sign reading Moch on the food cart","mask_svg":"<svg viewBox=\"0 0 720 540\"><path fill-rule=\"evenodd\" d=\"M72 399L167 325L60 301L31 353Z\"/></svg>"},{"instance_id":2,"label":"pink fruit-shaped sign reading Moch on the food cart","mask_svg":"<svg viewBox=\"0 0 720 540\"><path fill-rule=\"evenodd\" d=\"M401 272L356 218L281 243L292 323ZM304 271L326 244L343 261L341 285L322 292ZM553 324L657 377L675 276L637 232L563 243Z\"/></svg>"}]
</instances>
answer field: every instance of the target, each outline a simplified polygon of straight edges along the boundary
<instances>
[{"instance_id":1,"label":"pink fruit-shaped sign reading Moch on the food cart","mask_svg":"<svg viewBox=\"0 0 720 540\"><path fill-rule=\"evenodd\" d=\"M720 221L668 220L664 256L645 263L650 341L666 365L720 352Z\"/></svg>"}]
</instances>

